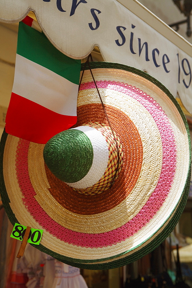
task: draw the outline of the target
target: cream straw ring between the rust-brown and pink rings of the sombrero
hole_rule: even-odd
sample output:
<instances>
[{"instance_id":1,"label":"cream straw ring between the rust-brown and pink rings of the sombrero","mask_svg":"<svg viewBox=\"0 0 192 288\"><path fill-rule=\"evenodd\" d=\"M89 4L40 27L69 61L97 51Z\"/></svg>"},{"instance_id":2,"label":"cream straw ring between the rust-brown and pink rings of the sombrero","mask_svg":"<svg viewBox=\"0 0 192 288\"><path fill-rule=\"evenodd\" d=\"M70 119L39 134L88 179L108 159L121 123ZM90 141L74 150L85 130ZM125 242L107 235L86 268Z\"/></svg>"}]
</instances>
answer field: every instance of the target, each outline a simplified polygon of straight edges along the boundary
<instances>
[{"instance_id":1,"label":"cream straw ring between the rust-brown and pink rings of the sombrero","mask_svg":"<svg viewBox=\"0 0 192 288\"><path fill-rule=\"evenodd\" d=\"M115 95L112 95L109 104L111 105L112 101L117 102L117 99L119 103L121 103L121 94L122 93L116 95L116 99L114 99ZM90 101L92 100L91 97L93 97L93 101L96 101L95 98L98 98L97 92L95 91L93 96L90 95L89 97ZM119 205L114 207L114 209L100 214L74 214L60 206L53 196L51 196L49 191L47 191L47 189L43 189L41 181L37 183L38 177L31 178L32 185L37 194L35 198L39 204L50 217L53 217L57 223L68 229L83 233L102 233L122 226L137 215L143 205L147 202L158 182L162 165L162 143L159 130L151 115L146 113L145 108L140 103L135 101L133 104L133 102L129 103L131 99L126 98L126 100L127 107L125 111L126 113L129 113L130 111L129 114L132 115L132 120L135 122L135 125L139 130L143 143L144 154L143 166L139 179L132 192ZM122 101L122 104L120 104L121 107L118 106L118 108L125 106L123 103L125 103L125 100ZM39 144L32 142L30 143L28 154L30 177L32 175L42 174L41 171L39 171L39 168L43 168L43 164L41 162L41 165L39 165L39 162L36 162L36 160L44 161L43 156L41 156L42 151L39 151L39 147ZM39 156L35 156L38 151L40 153ZM45 175L44 172L43 175ZM38 184L40 186L38 186ZM102 217L100 215L102 215Z\"/></svg>"}]
</instances>

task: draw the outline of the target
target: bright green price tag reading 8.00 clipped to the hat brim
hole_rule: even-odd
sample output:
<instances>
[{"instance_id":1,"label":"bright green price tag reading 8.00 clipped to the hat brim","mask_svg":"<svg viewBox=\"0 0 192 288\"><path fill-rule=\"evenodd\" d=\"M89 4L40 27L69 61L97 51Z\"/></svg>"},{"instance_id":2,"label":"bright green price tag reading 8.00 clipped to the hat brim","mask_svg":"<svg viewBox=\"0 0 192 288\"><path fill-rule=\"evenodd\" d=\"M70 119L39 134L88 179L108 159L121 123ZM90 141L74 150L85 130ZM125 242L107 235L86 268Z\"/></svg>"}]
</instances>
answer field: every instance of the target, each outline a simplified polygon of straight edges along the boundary
<instances>
[{"instance_id":1,"label":"bright green price tag reading 8.00 clipped to the hat brim","mask_svg":"<svg viewBox=\"0 0 192 288\"><path fill-rule=\"evenodd\" d=\"M13 231L12 231L10 237L22 241L24 234L25 234L25 231L26 231L26 228L27 228L26 226L15 223L15 226L13 228ZM42 234L43 234L43 230L31 228L27 242L39 245L39 243L41 241Z\"/></svg>"}]
</instances>

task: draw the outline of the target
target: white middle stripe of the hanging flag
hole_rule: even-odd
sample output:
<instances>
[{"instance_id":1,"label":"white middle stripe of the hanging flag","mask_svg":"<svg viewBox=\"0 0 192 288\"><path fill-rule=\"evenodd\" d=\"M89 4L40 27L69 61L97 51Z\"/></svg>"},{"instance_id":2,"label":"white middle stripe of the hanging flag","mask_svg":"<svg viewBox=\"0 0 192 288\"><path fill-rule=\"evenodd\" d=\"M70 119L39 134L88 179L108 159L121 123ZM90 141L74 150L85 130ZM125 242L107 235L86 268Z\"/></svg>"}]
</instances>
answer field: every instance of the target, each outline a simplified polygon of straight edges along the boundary
<instances>
[{"instance_id":1,"label":"white middle stripe of the hanging flag","mask_svg":"<svg viewBox=\"0 0 192 288\"><path fill-rule=\"evenodd\" d=\"M12 92L56 113L76 116L78 85L19 54Z\"/></svg>"}]
</instances>

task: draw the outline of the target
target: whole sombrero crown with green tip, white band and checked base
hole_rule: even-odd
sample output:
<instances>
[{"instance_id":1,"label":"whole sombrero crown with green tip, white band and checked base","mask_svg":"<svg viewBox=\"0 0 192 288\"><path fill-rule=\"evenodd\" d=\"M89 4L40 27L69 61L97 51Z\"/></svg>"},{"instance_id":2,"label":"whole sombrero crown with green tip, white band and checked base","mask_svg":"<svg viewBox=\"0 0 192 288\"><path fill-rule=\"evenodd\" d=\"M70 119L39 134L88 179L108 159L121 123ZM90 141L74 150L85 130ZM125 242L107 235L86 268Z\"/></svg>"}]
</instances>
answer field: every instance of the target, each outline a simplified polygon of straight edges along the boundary
<instances>
[{"instance_id":1,"label":"whole sombrero crown with green tip, white band and checked base","mask_svg":"<svg viewBox=\"0 0 192 288\"><path fill-rule=\"evenodd\" d=\"M114 161L117 149L110 128L99 123L89 125L58 133L47 142L43 151L49 170L79 193L87 195L108 189L117 168L117 161Z\"/></svg>"}]
</instances>

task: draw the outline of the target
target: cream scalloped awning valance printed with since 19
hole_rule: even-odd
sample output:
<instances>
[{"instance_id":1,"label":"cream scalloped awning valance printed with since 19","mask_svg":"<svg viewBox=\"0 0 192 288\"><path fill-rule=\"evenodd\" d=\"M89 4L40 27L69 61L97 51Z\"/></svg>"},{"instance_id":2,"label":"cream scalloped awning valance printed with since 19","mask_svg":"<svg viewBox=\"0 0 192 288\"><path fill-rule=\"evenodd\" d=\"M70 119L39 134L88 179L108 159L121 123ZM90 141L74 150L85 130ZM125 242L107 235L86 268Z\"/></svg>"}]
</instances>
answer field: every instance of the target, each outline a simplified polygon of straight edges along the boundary
<instances>
[{"instance_id":1,"label":"cream scalloped awning valance printed with since 19","mask_svg":"<svg viewBox=\"0 0 192 288\"><path fill-rule=\"evenodd\" d=\"M0 21L33 11L51 43L67 56L85 58L98 46L105 61L146 71L192 113L192 58L116 0L1 0ZM174 33L174 32L173 32ZM183 40L184 41L184 40Z\"/></svg>"}]
</instances>

